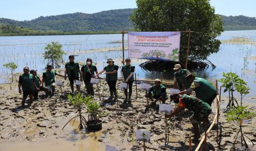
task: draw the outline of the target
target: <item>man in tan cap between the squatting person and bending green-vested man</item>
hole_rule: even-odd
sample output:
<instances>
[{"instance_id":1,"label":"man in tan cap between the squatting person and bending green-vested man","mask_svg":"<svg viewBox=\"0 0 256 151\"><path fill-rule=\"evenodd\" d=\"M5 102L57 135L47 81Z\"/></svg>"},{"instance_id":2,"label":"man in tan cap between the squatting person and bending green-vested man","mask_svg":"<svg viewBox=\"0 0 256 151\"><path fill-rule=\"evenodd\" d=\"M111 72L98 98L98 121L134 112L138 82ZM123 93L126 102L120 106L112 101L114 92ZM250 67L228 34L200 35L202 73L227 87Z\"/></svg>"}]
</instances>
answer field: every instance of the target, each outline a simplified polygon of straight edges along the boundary
<instances>
[{"instance_id":1,"label":"man in tan cap between the squatting person and bending green-vested man","mask_svg":"<svg viewBox=\"0 0 256 151\"><path fill-rule=\"evenodd\" d=\"M190 72L187 69L182 69L179 64L176 64L173 69L176 71L173 77L173 89L179 89L181 91L188 89L190 85L186 76L190 74Z\"/></svg>"}]
</instances>

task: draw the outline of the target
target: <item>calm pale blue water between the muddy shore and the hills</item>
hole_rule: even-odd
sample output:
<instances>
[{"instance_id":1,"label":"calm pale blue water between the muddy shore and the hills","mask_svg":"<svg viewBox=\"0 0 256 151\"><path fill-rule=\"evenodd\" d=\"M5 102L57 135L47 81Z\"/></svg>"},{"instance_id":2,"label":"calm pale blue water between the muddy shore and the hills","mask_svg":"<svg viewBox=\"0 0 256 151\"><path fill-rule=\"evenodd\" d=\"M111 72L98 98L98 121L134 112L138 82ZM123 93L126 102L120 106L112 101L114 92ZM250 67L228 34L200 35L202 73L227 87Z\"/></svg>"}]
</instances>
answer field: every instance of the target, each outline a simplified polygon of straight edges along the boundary
<instances>
[{"instance_id":1,"label":"calm pale blue water between the muddy shore and the hills","mask_svg":"<svg viewBox=\"0 0 256 151\"><path fill-rule=\"evenodd\" d=\"M248 37L256 38L256 31L225 31L218 39L226 40L234 37ZM127 36L124 36L127 40ZM7 74L6 69L3 68L3 63L14 61L18 64L16 72L21 72L24 66L29 66L30 69L37 69L39 73L42 73L46 61L43 60L42 53L45 51L44 47L51 41L58 41L63 44L63 50L67 55L63 56L64 61L68 61L68 55L74 52L79 56L75 57L76 61L85 61L87 57L91 57L94 62L97 63L98 70L104 68L107 58L113 58L116 64L121 67L122 63L122 51L103 51L93 52L88 51L92 49L110 49L121 48L122 34L100 34L100 35L73 35L73 36L17 36L17 37L0 37L0 75ZM127 43L125 43L127 47ZM81 53L83 51L83 53ZM84 53L88 51L88 53ZM80 53L79 53L80 52ZM128 52L124 52L125 57L128 56ZM212 54L208 57L208 60L216 65L213 70L211 68L204 71L191 71L196 72L198 77L208 79L211 83L215 83L216 79L222 77L222 72L236 72L239 76L248 82L250 86L250 94L248 96L255 95L255 61L249 60L250 56L255 56L255 46L248 44L221 44L220 51L217 54ZM244 57L248 57L244 62ZM135 73L137 73L138 79L155 79L161 78L160 72L148 72L139 67L139 64L146 60L132 60L132 64L135 66ZM246 64L245 69L244 64ZM64 65L61 66L64 70ZM166 73L163 75L164 81L171 82L173 80L173 67L166 69ZM121 77L120 72L118 76ZM105 75L103 75L105 77ZM0 83L4 80L0 78Z\"/></svg>"}]
</instances>

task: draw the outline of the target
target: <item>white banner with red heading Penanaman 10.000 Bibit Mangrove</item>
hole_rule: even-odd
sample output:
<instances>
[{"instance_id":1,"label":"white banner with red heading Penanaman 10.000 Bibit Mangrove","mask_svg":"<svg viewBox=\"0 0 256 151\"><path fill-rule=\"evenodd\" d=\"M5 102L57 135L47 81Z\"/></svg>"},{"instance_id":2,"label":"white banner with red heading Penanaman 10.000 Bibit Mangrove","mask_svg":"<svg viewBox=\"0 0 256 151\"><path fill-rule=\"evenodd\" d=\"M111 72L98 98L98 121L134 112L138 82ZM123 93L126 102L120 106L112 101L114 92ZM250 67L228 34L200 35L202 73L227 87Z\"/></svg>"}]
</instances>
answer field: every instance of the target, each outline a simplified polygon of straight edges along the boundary
<instances>
[{"instance_id":1,"label":"white banner with red heading Penanaman 10.000 Bibit Mangrove","mask_svg":"<svg viewBox=\"0 0 256 151\"><path fill-rule=\"evenodd\" d=\"M130 58L179 61L181 32L128 32Z\"/></svg>"}]
</instances>

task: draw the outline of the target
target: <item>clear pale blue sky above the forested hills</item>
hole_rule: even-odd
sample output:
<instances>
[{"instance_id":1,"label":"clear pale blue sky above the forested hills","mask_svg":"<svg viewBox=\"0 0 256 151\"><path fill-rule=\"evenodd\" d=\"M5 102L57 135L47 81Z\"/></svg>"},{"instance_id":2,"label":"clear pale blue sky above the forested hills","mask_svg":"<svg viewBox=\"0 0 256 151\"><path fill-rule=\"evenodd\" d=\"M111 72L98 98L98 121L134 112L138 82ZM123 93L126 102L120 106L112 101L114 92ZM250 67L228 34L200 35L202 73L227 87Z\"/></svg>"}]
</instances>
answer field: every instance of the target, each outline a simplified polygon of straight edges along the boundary
<instances>
[{"instance_id":1,"label":"clear pale blue sky above the forested hills","mask_svg":"<svg viewBox=\"0 0 256 151\"><path fill-rule=\"evenodd\" d=\"M255 0L210 0L210 3L217 14L256 17ZM0 0L0 4L0 18L14 20L137 7L135 0Z\"/></svg>"}]
</instances>

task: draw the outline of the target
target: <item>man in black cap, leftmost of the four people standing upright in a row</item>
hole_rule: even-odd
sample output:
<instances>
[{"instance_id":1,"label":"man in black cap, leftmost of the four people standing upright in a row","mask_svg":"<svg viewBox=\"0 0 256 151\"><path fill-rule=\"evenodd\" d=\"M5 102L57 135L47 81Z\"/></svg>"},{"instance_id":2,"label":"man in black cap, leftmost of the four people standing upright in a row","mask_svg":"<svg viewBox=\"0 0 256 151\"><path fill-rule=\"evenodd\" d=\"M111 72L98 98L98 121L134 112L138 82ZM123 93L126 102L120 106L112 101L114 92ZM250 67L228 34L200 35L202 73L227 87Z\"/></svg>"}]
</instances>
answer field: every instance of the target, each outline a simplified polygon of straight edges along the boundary
<instances>
[{"instance_id":1,"label":"man in black cap, leftmost of the four people standing upright in a row","mask_svg":"<svg viewBox=\"0 0 256 151\"><path fill-rule=\"evenodd\" d=\"M67 74L68 74L70 88L72 93L74 93L74 82L75 80L79 80L79 74L80 74L80 80L82 81L82 76L81 76L81 71L80 71L78 62L74 62L75 60L74 55L70 55L68 58L69 58L69 62L67 62L65 65L64 78L65 80L67 80ZM77 85L77 91L79 91L79 87L80 86Z\"/></svg>"}]
</instances>

